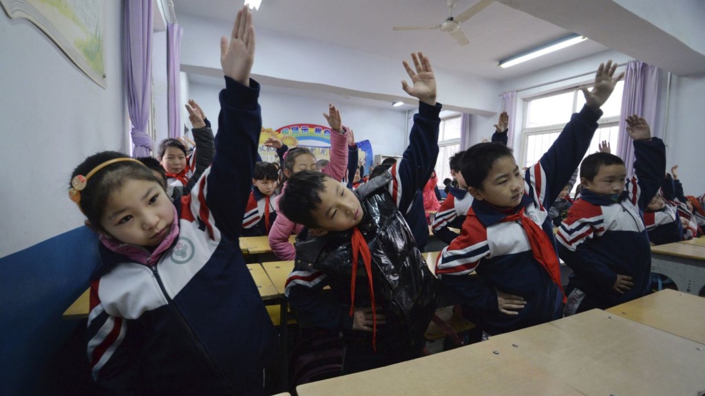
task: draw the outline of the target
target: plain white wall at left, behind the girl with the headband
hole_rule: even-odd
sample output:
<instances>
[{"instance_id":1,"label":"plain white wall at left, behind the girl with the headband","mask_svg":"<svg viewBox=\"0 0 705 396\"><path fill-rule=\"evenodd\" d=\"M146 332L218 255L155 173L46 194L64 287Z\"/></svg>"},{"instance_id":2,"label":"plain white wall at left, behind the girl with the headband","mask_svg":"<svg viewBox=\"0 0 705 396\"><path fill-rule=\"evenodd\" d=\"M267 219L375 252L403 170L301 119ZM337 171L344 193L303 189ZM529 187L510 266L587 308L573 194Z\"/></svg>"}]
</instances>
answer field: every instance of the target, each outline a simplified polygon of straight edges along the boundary
<instances>
[{"instance_id":1,"label":"plain white wall at left, behind the girl with the headband","mask_svg":"<svg viewBox=\"0 0 705 396\"><path fill-rule=\"evenodd\" d=\"M106 88L35 25L0 12L0 256L81 225L67 194L71 171L97 151L129 152L121 6L105 2Z\"/></svg>"}]
</instances>

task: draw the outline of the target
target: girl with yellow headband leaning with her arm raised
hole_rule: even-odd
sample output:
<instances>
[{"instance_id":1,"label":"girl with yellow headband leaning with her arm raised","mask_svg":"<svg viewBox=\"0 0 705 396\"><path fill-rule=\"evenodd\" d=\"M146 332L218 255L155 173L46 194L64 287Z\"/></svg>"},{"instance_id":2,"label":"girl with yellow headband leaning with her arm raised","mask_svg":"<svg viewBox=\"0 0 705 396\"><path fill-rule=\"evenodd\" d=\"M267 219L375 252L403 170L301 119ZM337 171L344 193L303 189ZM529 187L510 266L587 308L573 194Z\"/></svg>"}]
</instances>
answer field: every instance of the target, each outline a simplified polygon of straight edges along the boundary
<instances>
[{"instance_id":1,"label":"girl with yellow headband leaning with her arm raised","mask_svg":"<svg viewBox=\"0 0 705 396\"><path fill-rule=\"evenodd\" d=\"M83 161L69 196L99 234L88 357L110 395L263 395L276 332L238 237L262 126L252 15L221 39L226 89L216 156L171 202L161 180L124 154Z\"/></svg>"}]
</instances>

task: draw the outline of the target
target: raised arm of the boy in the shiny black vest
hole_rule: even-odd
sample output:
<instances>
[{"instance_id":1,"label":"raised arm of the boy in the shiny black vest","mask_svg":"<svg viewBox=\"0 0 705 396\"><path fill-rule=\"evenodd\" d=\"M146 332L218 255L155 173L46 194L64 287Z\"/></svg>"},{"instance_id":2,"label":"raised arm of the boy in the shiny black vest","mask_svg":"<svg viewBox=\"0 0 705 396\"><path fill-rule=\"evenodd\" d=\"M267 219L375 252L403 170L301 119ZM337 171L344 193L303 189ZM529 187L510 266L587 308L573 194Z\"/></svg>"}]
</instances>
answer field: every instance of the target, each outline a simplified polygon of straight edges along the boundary
<instances>
[{"instance_id":1,"label":"raised arm of the boy in the shiny black vest","mask_svg":"<svg viewBox=\"0 0 705 396\"><path fill-rule=\"evenodd\" d=\"M402 88L407 94L419 99L419 113L414 116L409 147L404 151L402 160L388 171L393 176L389 192L402 213L406 213L414 195L424 186L436 165L441 123L441 104L436 103L436 78L431 62L421 52L411 54L411 57L414 69L406 61L403 65L413 85L402 81Z\"/></svg>"}]
</instances>

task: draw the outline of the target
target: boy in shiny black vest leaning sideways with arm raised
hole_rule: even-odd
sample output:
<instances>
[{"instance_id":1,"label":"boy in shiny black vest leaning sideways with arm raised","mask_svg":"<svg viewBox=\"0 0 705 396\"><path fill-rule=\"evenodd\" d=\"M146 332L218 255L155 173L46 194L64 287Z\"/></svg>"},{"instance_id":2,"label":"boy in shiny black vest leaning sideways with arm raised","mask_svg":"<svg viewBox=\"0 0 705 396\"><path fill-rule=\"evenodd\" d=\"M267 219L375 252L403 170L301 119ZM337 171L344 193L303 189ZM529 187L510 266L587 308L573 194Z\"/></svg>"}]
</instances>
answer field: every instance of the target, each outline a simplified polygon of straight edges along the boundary
<instances>
[{"instance_id":1,"label":"boy in shiny black vest leaning sideways with arm raised","mask_svg":"<svg viewBox=\"0 0 705 396\"><path fill-rule=\"evenodd\" d=\"M403 159L355 192L322 173L293 175L279 209L306 226L286 283L299 323L343 333L344 373L421 357L436 283L403 218L439 154L436 80L422 53L404 62L419 99ZM375 168L376 170L376 168ZM331 293L323 294L324 286Z\"/></svg>"}]
</instances>

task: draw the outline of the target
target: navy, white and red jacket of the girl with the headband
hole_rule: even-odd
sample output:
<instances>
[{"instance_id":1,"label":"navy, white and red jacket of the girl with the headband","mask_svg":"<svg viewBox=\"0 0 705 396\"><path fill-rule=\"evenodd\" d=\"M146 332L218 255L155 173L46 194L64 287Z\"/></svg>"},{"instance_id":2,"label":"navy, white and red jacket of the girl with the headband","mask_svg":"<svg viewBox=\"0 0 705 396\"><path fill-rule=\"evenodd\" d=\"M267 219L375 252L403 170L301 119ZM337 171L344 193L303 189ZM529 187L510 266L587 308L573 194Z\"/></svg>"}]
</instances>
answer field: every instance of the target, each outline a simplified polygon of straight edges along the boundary
<instances>
[{"instance_id":1,"label":"navy, white and red jacket of the girl with the headband","mask_svg":"<svg viewBox=\"0 0 705 396\"><path fill-rule=\"evenodd\" d=\"M226 78L212 166L147 251L102 238L88 357L111 395L259 395L276 332L238 238L262 130L259 84Z\"/></svg>"}]
</instances>

